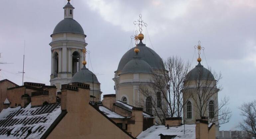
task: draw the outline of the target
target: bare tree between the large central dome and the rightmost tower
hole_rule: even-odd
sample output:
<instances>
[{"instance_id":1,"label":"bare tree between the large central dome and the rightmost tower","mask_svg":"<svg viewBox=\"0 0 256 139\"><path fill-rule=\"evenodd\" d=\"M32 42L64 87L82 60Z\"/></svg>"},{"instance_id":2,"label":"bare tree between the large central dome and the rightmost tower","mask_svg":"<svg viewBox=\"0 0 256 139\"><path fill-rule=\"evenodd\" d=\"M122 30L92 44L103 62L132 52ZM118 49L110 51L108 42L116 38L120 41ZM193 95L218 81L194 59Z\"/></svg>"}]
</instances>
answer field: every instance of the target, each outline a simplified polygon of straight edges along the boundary
<instances>
[{"instance_id":1,"label":"bare tree between the large central dome and the rightmost tower","mask_svg":"<svg viewBox=\"0 0 256 139\"><path fill-rule=\"evenodd\" d=\"M139 92L145 97L151 97L153 114L160 124L164 117L181 117L183 114L183 81L189 71L189 62L180 57L169 57L164 61L162 69L153 71L151 81L147 85L139 85ZM147 101L146 101L147 103ZM146 107L144 104L142 107Z\"/></svg>"}]
</instances>

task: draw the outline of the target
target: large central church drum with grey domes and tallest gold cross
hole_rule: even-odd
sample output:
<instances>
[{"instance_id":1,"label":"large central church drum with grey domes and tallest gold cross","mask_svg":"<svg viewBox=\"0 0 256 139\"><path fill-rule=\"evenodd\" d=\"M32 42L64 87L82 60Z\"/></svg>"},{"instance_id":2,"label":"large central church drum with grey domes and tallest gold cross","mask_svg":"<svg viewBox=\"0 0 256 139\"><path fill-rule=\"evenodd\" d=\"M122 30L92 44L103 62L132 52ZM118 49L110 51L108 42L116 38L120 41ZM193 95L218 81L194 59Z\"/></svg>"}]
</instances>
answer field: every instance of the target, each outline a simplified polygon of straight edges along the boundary
<instances>
[{"instance_id":1,"label":"large central church drum with grey domes and tallest gold cross","mask_svg":"<svg viewBox=\"0 0 256 139\"><path fill-rule=\"evenodd\" d=\"M143 43L142 26L147 24L142 21L141 17L140 15L140 19L137 23L135 22L135 25L139 26L140 34L135 35L134 38L139 43L136 43L136 47L128 50L121 58L113 78L114 88L117 101L143 107L146 112L154 114L152 102L157 99L157 96L146 97L139 92L138 88L140 85L149 86L152 75L165 69L161 57Z\"/></svg>"}]
</instances>

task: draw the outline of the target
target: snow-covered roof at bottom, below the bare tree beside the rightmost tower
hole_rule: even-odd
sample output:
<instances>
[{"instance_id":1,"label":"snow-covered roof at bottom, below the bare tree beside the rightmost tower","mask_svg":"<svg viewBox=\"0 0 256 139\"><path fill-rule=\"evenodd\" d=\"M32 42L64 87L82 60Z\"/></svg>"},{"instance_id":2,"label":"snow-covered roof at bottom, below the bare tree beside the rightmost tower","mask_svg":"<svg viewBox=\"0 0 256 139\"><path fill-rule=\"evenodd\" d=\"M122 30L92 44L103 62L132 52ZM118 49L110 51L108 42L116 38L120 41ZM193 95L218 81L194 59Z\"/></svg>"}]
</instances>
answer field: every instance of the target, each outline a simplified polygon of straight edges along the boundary
<instances>
[{"instance_id":1,"label":"snow-covered roof at bottom, below the bare tree beside the rightmost tower","mask_svg":"<svg viewBox=\"0 0 256 139\"><path fill-rule=\"evenodd\" d=\"M160 139L160 134L176 136L174 139L195 139L195 124L185 124L181 126L171 126L169 129L165 125L153 125L141 132L137 139Z\"/></svg>"}]
</instances>

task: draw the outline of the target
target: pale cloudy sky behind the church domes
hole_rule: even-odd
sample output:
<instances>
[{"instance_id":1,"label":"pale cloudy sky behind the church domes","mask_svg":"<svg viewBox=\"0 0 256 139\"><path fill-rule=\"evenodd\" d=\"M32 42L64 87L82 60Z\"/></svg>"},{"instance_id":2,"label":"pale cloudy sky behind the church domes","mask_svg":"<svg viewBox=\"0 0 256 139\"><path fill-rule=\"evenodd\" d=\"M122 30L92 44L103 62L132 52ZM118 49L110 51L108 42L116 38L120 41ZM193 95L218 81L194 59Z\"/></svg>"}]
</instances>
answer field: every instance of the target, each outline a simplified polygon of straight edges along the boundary
<instances>
[{"instance_id":1,"label":"pale cloudy sky behind the church domes","mask_svg":"<svg viewBox=\"0 0 256 139\"><path fill-rule=\"evenodd\" d=\"M0 79L50 85L50 35L64 18L65 0L9 0L1 2ZM103 94L114 93L114 71L131 47L133 21L138 15L148 23L144 43L160 57L180 56L196 65L194 45L205 48L202 64L221 71L223 90L230 97L232 118L220 130L234 130L241 120L237 109L256 98L256 1L255 0L71 0L74 19L81 24L90 51L89 69L99 74ZM151 41L151 43L150 43ZM134 45L134 44L132 44ZM205 60L206 58L206 60ZM207 61L207 63L206 63ZM87 67L88 67L87 66Z\"/></svg>"}]
</instances>

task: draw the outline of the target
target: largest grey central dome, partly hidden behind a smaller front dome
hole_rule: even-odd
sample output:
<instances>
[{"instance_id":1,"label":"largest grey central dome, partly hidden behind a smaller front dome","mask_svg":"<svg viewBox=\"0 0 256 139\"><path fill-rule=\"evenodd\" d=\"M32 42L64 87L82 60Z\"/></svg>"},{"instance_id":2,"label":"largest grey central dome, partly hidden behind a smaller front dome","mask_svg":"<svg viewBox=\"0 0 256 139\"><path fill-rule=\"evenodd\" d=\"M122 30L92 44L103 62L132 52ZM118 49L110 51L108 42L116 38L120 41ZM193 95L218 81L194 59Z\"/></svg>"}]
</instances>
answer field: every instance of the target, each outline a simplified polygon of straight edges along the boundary
<instances>
[{"instance_id":1,"label":"largest grey central dome, partly hidden behind a smaller front dome","mask_svg":"<svg viewBox=\"0 0 256 139\"><path fill-rule=\"evenodd\" d=\"M152 69L163 69L163 61L161 57L152 49L148 48L145 44L140 42L138 44L140 49L139 56L142 60L146 61ZM123 70L124 66L133 59L135 56L134 48L128 50L121 58L117 71Z\"/></svg>"}]
</instances>

